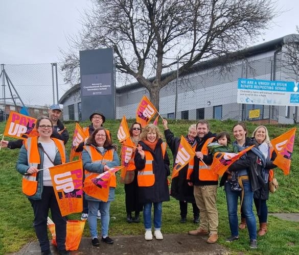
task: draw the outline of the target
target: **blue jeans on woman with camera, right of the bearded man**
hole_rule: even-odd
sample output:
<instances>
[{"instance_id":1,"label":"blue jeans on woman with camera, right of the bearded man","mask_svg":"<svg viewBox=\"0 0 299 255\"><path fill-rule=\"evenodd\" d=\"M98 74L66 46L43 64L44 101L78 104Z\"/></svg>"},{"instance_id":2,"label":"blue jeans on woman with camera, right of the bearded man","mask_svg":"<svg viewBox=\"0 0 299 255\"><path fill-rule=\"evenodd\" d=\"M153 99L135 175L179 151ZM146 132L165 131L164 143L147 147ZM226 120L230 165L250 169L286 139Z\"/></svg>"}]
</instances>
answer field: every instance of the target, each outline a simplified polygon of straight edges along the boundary
<instances>
[{"instance_id":1,"label":"blue jeans on woman with camera, right of the bearded man","mask_svg":"<svg viewBox=\"0 0 299 255\"><path fill-rule=\"evenodd\" d=\"M257 239L257 222L254 211L252 209L254 201L254 192L251 191L251 184L249 180L242 180L244 189L244 198L242 203L242 212L246 218L249 238ZM238 200L241 197L241 191L233 191L229 182L224 186L226 193L226 203L228 211L229 227L233 237L239 236L238 228Z\"/></svg>"}]
</instances>

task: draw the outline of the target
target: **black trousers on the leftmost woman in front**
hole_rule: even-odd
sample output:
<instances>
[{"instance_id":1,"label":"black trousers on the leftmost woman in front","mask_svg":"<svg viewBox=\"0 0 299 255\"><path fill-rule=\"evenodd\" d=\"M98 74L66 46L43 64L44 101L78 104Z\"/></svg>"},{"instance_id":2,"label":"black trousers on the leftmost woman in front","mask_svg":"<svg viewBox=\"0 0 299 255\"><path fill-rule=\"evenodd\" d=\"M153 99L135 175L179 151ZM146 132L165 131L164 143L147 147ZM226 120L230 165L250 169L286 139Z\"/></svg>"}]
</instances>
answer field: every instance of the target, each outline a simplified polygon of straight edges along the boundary
<instances>
[{"instance_id":1,"label":"black trousers on the leftmost woman in front","mask_svg":"<svg viewBox=\"0 0 299 255\"><path fill-rule=\"evenodd\" d=\"M34 228L41 251L50 249L47 231L49 209L55 223L57 248L65 250L66 218L61 216L53 187L43 186L41 200L29 200L33 208Z\"/></svg>"}]
</instances>

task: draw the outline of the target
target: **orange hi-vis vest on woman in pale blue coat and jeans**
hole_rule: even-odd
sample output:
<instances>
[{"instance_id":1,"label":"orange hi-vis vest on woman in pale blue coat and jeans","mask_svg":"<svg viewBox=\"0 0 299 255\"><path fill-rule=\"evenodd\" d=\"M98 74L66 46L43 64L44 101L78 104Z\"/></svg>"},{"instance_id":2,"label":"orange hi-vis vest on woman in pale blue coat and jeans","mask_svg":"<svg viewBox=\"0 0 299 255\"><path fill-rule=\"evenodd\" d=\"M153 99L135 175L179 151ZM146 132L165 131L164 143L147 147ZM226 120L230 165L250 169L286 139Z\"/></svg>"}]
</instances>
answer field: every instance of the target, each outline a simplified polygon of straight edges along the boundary
<instances>
[{"instance_id":1,"label":"orange hi-vis vest on woman in pale blue coat and jeans","mask_svg":"<svg viewBox=\"0 0 299 255\"><path fill-rule=\"evenodd\" d=\"M90 145L84 146L85 150L88 152L91 161L93 163L100 163L106 165L107 162L113 161L113 152L114 149L109 149L105 152L104 155L100 154L100 152L94 147ZM98 176L99 173L93 173L85 170L85 178L86 179L93 179L94 177ZM110 187L116 188L116 175L113 173L111 175Z\"/></svg>"}]
</instances>

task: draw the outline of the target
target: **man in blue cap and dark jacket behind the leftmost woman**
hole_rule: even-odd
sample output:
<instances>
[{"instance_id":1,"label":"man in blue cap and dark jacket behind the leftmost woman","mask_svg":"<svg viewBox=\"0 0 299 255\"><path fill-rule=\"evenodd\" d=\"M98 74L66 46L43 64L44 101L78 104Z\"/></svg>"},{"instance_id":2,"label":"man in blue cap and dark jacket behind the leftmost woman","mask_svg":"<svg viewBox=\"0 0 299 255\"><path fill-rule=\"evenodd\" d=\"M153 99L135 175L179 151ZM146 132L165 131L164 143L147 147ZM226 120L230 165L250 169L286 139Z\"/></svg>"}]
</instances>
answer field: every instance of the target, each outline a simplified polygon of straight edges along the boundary
<instances>
[{"instance_id":1,"label":"man in blue cap and dark jacket behind the leftmost woman","mask_svg":"<svg viewBox=\"0 0 299 255\"><path fill-rule=\"evenodd\" d=\"M52 105L49 107L49 118L53 123L53 133L51 135L52 138L57 138L62 140L64 144L66 144L69 135L66 130L66 127L63 125L61 120L59 119L61 116L61 108L59 105ZM23 145L23 140L18 139L15 141L0 141L2 147L7 147L9 149L19 149Z\"/></svg>"}]
</instances>

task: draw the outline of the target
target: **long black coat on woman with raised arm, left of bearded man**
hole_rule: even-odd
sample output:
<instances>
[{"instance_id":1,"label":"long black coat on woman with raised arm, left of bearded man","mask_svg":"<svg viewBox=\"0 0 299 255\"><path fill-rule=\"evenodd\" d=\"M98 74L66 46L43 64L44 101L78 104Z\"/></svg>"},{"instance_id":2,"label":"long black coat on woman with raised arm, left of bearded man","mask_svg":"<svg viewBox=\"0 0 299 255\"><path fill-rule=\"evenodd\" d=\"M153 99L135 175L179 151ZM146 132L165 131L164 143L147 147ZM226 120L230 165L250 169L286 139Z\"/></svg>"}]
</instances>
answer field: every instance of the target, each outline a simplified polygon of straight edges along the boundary
<instances>
[{"instance_id":1,"label":"long black coat on woman with raised arm, left of bearded man","mask_svg":"<svg viewBox=\"0 0 299 255\"><path fill-rule=\"evenodd\" d=\"M168 129L164 131L166 142L171 149L173 155L173 165L175 164L176 154L180 143L180 138L174 137L173 133ZM196 141L193 146L196 145ZM188 164L178 172L178 176L171 181L170 195L179 201L187 201L195 203L193 186L188 185L187 181Z\"/></svg>"}]
</instances>

